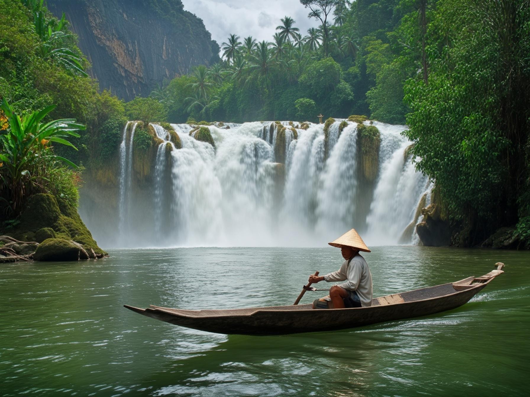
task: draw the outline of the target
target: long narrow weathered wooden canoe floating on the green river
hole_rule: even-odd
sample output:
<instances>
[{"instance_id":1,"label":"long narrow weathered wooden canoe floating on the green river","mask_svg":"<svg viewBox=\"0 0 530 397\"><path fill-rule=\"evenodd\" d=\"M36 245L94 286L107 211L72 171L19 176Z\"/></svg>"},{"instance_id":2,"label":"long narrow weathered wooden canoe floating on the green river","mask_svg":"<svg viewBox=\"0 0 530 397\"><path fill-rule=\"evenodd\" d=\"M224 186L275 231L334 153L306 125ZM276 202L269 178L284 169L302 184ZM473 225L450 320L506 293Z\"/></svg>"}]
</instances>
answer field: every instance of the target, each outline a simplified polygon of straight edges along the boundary
<instances>
[{"instance_id":1,"label":"long narrow weathered wooden canoe floating on the green river","mask_svg":"<svg viewBox=\"0 0 530 397\"><path fill-rule=\"evenodd\" d=\"M504 273L504 264L481 277L420 288L375 298L372 306L351 309L312 309L312 304L229 310L183 310L151 305L127 309L181 327L227 335L284 335L367 326L439 313L462 306L493 278Z\"/></svg>"}]
</instances>

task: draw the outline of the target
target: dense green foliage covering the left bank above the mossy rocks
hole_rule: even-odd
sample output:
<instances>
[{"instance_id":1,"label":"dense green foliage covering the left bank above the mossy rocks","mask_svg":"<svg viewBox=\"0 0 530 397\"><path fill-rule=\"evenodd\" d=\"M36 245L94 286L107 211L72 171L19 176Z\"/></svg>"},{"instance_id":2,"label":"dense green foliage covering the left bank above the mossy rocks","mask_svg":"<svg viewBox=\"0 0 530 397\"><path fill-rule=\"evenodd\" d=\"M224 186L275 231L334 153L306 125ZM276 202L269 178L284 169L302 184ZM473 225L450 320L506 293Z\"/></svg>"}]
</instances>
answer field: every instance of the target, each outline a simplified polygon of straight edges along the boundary
<instances>
[{"instance_id":1,"label":"dense green foliage covering the left bank above the mossy rocks","mask_svg":"<svg viewBox=\"0 0 530 397\"><path fill-rule=\"evenodd\" d=\"M70 209L69 219L78 218L83 167L75 164L115 154L123 104L98 93L68 22L53 17L42 1L0 0L0 15L0 220L18 224L13 216L39 192Z\"/></svg>"}]
</instances>

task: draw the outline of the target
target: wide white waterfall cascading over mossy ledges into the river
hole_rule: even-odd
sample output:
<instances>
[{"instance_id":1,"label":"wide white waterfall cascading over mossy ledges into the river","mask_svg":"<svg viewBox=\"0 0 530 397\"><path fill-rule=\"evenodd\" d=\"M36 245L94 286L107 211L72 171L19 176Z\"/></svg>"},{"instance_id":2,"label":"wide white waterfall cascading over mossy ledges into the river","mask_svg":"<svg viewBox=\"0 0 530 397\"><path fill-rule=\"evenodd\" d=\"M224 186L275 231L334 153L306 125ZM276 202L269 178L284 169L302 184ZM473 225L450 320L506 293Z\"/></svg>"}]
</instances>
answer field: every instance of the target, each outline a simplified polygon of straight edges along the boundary
<instances>
[{"instance_id":1,"label":"wide white waterfall cascading over mossy ledges into the river","mask_svg":"<svg viewBox=\"0 0 530 397\"><path fill-rule=\"evenodd\" d=\"M356 123L348 122L342 132L340 121L330 126L327 159L323 124L296 129L298 139L293 139L291 126L282 123L286 127L285 167L275 163L279 127L274 125L270 131L270 124L226 124L229 129L211 125L207 128L215 148L190 137L188 124L171 124L181 149L175 149L164 128L152 124L163 141L154 164L152 208L142 207L152 213L152 225L145 221L135 225L128 219L129 207L134 204L127 197L136 123L129 139L124 130L120 146L120 238L114 244L322 246L350 228L358 229L368 245L398 242L414 221L429 186L427 178L404 156L410 145L401 135L404 126L373 122L381 133L379 166L370 185L372 201L361 209L354 198L359 190L366 189L357 181ZM171 151L166 149L168 143ZM144 233L137 238L145 230L154 230L153 236ZM93 233L97 238L98 230ZM409 241L417 242L417 236L412 233Z\"/></svg>"}]
</instances>

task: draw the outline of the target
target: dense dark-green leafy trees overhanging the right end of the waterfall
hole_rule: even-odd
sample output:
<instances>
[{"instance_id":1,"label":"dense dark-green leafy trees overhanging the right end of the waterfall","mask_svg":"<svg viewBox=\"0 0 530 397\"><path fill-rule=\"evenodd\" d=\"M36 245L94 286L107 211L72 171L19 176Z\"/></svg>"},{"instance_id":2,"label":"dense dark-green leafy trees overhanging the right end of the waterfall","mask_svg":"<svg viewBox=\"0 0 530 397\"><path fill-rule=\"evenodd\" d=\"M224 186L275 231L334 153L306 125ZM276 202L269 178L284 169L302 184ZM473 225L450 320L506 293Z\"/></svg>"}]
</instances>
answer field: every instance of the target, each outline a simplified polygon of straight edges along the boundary
<instances>
[{"instance_id":1,"label":"dense dark-green leafy trees overhanging the right end of the waterfall","mask_svg":"<svg viewBox=\"0 0 530 397\"><path fill-rule=\"evenodd\" d=\"M440 0L429 19L428 79L405 85L418 168L476 233L469 243L519 216L528 238L530 3Z\"/></svg>"}]
</instances>

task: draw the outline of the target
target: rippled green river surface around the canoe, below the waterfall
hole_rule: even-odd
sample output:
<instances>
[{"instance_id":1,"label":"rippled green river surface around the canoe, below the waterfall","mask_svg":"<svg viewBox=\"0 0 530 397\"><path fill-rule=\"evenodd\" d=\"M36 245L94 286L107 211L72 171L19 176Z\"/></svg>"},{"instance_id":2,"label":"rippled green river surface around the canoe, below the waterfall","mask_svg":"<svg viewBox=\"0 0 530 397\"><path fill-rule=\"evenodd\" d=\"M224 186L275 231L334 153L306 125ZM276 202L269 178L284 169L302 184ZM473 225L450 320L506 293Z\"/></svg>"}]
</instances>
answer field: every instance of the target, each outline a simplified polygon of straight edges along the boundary
<instances>
[{"instance_id":1,"label":"rippled green river surface around the canoe, below the waterfall","mask_svg":"<svg viewBox=\"0 0 530 397\"><path fill-rule=\"evenodd\" d=\"M461 308L368 327L252 337L123 308L291 304L333 248L110 250L81 263L0 265L0 395L527 395L530 253L372 247L374 297L505 273ZM318 287L331 284L319 283ZM319 294L319 295L316 295ZM322 292L306 293L309 303Z\"/></svg>"}]
</instances>

